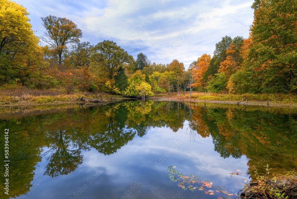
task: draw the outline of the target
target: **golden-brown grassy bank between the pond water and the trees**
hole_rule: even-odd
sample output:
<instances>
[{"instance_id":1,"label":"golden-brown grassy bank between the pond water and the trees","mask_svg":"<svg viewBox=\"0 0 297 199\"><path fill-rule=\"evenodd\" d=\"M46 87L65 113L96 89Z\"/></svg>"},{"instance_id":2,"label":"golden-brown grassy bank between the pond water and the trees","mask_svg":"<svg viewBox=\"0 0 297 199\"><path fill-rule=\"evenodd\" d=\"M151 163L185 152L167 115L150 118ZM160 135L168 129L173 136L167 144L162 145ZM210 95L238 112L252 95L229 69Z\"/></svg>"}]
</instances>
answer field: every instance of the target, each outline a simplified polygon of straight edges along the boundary
<instances>
[{"instance_id":1,"label":"golden-brown grassy bank between the pond water and the trees","mask_svg":"<svg viewBox=\"0 0 297 199\"><path fill-rule=\"evenodd\" d=\"M63 103L74 103L75 98L78 97L89 97L89 98L104 98L110 99L111 96L116 99L125 99L120 95L111 95L107 93L99 92L67 92L64 88L55 88L49 90L38 90L28 89L23 86L17 88L1 88L0 89L0 105L1 106L21 106L21 105L46 105L46 104L63 104ZM203 92L192 92L192 100L196 102L212 102L212 103L226 103L226 104L237 104L238 101L245 99L241 104L246 105L267 105L269 101L270 106L284 106L284 107L297 107L297 95L296 94L222 94L222 93L203 93ZM165 98L169 100L180 100L189 101L189 93L186 95L180 93L179 97L177 93L158 94L156 97Z\"/></svg>"}]
</instances>

